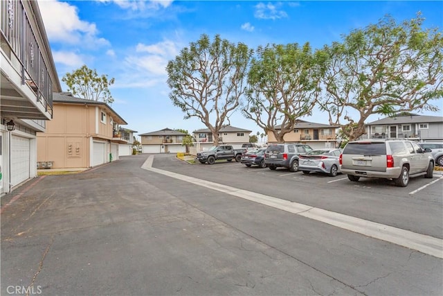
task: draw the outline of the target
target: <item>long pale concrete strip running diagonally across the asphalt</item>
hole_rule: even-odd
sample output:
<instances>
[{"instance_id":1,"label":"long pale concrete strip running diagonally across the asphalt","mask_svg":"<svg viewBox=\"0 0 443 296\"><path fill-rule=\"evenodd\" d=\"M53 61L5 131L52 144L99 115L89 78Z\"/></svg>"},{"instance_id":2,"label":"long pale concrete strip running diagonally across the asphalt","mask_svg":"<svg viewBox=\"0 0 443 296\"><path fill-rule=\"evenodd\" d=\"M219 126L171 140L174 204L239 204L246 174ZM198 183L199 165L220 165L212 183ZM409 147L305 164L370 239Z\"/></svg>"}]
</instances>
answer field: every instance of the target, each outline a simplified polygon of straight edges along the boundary
<instances>
[{"instance_id":1,"label":"long pale concrete strip running diagonally across the asphalt","mask_svg":"<svg viewBox=\"0 0 443 296\"><path fill-rule=\"evenodd\" d=\"M310 218L316 221L327 223L329 225L333 225L341 229L346 229L351 232L363 234L372 238L377 238L381 241L387 241L389 243L394 243L402 247L408 247L409 249L417 250L424 254L443 259L443 240L440 238L427 236L425 234L417 234L409 230L391 227L388 225L375 223L353 216L339 214L334 211L311 207L307 204L300 204L298 202L282 200L280 198L274 198L273 196L264 195L261 193L255 193L244 189L237 189L233 186L210 182L207 180L201 180L196 177L181 175L179 173L174 173L170 171L163 171L159 168L152 168L151 157L153 159L154 155L148 157L141 168L181 181L189 182L191 184L203 186L211 190L233 195L237 198L251 200L253 202L264 204L275 209L280 209L282 211L287 211L289 213L303 216L305 218Z\"/></svg>"}]
</instances>

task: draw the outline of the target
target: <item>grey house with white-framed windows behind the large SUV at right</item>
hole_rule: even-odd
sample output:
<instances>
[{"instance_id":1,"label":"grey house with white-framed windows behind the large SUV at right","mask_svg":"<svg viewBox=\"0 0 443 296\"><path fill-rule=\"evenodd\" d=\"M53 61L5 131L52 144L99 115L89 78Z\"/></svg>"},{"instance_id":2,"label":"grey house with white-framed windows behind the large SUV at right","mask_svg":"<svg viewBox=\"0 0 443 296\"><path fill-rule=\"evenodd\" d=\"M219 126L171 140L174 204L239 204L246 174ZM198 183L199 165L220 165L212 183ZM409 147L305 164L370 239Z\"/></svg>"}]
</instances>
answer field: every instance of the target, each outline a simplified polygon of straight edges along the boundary
<instances>
[{"instance_id":1,"label":"grey house with white-framed windows behind the large SUV at right","mask_svg":"<svg viewBox=\"0 0 443 296\"><path fill-rule=\"evenodd\" d=\"M443 141L443 116L401 113L365 125L364 139L407 138Z\"/></svg>"}]
</instances>

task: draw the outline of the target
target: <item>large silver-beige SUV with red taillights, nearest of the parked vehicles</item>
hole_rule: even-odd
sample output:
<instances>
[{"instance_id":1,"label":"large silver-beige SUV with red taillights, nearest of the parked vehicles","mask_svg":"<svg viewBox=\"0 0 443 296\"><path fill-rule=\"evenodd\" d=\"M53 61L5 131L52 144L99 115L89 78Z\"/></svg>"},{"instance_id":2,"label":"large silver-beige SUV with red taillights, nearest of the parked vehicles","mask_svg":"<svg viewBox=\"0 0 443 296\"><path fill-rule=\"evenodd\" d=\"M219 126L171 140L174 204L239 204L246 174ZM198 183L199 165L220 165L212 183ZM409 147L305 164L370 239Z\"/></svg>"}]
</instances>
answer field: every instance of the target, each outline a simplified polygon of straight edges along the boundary
<instances>
[{"instance_id":1,"label":"large silver-beige SUV with red taillights, nearest of the parked vehicles","mask_svg":"<svg viewBox=\"0 0 443 296\"><path fill-rule=\"evenodd\" d=\"M401 139L368 139L350 141L340 155L341 172L351 181L360 177L394 180L400 187L409 177L433 177L434 159L430 149Z\"/></svg>"}]
</instances>

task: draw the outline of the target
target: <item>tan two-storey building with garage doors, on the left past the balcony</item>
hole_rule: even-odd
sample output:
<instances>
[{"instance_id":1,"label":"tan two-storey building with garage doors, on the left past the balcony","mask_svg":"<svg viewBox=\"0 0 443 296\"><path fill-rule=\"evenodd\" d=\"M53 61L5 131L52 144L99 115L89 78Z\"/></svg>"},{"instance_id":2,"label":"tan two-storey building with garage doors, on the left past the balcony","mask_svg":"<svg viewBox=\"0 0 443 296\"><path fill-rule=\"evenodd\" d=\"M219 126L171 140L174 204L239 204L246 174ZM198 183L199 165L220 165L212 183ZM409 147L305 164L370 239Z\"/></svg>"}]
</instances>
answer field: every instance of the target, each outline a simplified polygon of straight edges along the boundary
<instances>
[{"instance_id":1,"label":"tan two-storey building with garage doors, on the left past the balcony","mask_svg":"<svg viewBox=\"0 0 443 296\"><path fill-rule=\"evenodd\" d=\"M90 168L118 159L118 134L126 125L107 103L53 94L54 118L37 132L37 167Z\"/></svg>"}]
</instances>

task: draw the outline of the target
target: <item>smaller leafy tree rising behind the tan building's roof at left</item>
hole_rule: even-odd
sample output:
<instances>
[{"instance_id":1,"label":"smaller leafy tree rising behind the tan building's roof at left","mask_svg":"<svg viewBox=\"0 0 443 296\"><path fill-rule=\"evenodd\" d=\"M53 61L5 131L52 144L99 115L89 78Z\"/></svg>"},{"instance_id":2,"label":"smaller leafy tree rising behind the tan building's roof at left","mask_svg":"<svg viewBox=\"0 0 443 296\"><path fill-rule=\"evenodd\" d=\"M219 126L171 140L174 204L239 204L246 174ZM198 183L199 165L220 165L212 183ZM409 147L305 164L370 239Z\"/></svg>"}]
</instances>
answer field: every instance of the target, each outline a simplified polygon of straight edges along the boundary
<instances>
[{"instance_id":1,"label":"smaller leafy tree rising behind the tan building's roof at left","mask_svg":"<svg viewBox=\"0 0 443 296\"><path fill-rule=\"evenodd\" d=\"M89 69L85 64L72 73L66 73L62 81L75 96L91 101L103 101L109 105L114 102L109 86L114 84L115 79L108 79L105 74L98 76L96 69Z\"/></svg>"}]
</instances>

